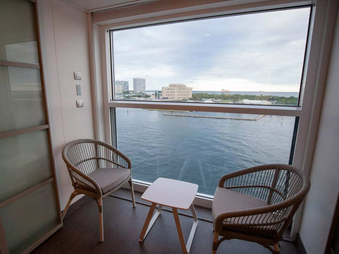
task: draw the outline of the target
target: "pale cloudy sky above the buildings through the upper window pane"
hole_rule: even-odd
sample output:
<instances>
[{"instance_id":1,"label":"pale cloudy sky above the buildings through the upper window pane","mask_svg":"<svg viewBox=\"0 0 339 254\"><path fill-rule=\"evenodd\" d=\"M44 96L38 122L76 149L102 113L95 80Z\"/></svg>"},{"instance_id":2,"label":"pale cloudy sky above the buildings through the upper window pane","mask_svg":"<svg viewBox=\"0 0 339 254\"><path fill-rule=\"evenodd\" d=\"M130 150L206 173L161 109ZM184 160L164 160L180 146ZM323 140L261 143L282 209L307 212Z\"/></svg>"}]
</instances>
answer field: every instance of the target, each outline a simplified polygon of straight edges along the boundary
<instances>
[{"instance_id":1,"label":"pale cloudy sky above the buildings through the upper window pane","mask_svg":"<svg viewBox=\"0 0 339 254\"><path fill-rule=\"evenodd\" d=\"M146 90L298 92L310 8L113 31L115 80Z\"/></svg>"}]
</instances>

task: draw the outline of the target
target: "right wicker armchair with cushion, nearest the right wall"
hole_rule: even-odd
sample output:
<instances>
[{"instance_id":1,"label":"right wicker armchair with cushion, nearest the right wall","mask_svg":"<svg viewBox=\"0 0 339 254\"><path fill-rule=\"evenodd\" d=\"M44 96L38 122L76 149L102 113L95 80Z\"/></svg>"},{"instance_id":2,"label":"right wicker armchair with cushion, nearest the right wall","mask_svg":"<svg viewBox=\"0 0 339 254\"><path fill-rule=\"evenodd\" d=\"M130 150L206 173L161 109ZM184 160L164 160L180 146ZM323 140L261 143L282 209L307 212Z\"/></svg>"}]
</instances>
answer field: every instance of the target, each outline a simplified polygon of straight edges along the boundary
<instances>
[{"instance_id":1,"label":"right wicker armchair with cushion, nearest the right wall","mask_svg":"<svg viewBox=\"0 0 339 254\"><path fill-rule=\"evenodd\" d=\"M212 206L212 254L228 239L257 242L280 253L278 242L309 187L305 174L286 164L260 165L223 176Z\"/></svg>"}]
</instances>

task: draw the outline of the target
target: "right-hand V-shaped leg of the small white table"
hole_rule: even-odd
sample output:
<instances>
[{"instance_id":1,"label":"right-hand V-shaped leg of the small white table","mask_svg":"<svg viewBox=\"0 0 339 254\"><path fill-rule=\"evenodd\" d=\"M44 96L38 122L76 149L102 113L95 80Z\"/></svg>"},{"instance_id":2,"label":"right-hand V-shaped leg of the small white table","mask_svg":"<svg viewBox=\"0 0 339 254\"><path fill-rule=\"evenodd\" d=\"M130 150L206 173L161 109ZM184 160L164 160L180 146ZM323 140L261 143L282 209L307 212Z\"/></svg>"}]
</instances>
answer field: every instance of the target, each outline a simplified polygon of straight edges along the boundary
<instances>
[{"instance_id":1,"label":"right-hand V-shaped leg of the small white table","mask_svg":"<svg viewBox=\"0 0 339 254\"><path fill-rule=\"evenodd\" d=\"M179 236L179 240L180 240L180 244L181 244L181 249L182 249L184 254L188 254L189 250L191 249L191 245L192 245L192 242L193 242L195 231L196 231L197 225L198 225L198 216L197 216L197 213L194 209L193 204L190 206L190 209L191 209L192 214L193 214L193 225L192 225L192 228L191 228L191 232L189 233L187 244L185 244L183 230L181 229L181 224L180 224L180 220L179 220L178 210L176 208L172 208L173 216L174 216L174 220L175 220L175 225L177 227L178 236Z\"/></svg>"}]
</instances>

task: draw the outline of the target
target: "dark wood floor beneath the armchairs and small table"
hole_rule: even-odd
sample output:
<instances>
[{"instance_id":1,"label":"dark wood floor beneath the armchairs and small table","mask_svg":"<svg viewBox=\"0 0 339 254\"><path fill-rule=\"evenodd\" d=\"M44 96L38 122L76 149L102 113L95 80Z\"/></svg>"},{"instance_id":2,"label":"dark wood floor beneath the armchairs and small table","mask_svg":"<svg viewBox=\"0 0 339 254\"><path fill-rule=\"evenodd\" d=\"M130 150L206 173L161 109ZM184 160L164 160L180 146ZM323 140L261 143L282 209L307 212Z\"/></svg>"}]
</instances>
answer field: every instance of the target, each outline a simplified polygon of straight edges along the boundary
<instances>
[{"instance_id":1,"label":"dark wood floor beneath the armchairs and small table","mask_svg":"<svg viewBox=\"0 0 339 254\"><path fill-rule=\"evenodd\" d=\"M126 190L115 193L130 197ZM136 197L140 200L139 194ZM162 211L143 243L139 243L139 234L147 216L149 207L132 203L116 197L104 199L104 237L99 242L99 217L95 201L82 198L72 205L64 218L63 227L36 248L32 253L95 253L95 254L181 254L181 247L171 212ZM209 209L196 208L198 217L210 219ZM185 240L192 225L192 219L180 215ZM191 247L191 254L209 254L212 250L213 226L209 222L199 221ZM298 254L297 246L281 241L282 254ZM218 254L247 254L270 252L257 243L232 239L220 244Z\"/></svg>"}]
</instances>

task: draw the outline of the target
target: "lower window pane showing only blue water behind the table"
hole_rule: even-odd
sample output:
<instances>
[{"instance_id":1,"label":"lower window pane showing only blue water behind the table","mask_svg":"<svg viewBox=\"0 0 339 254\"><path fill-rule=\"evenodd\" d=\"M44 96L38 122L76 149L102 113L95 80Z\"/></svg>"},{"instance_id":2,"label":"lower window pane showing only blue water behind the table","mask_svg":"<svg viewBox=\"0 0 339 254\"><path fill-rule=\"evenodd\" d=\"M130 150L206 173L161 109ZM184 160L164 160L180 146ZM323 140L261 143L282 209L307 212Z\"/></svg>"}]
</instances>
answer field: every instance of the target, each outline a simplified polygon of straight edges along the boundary
<instances>
[{"instance_id":1,"label":"lower window pane showing only blue water behind the table","mask_svg":"<svg viewBox=\"0 0 339 254\"><path fill-rule=\"evenodd\" d=\"M289 163L294 117L116 108L118 149L133 179L199 184L213 195L221 176L251 166Z\"/></svg>"}]
</instances>

